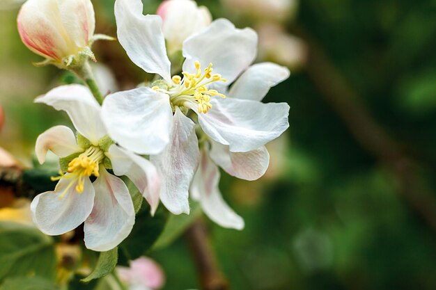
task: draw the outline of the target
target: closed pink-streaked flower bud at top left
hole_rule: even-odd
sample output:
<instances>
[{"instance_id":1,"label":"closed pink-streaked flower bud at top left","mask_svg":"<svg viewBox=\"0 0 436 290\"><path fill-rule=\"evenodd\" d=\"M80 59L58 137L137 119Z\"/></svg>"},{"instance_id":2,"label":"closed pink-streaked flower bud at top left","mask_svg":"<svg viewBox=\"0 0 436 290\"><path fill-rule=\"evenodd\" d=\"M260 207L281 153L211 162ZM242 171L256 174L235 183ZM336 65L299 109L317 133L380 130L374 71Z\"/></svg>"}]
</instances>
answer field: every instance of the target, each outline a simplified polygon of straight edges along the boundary
<instances>
[{"instance_id":1,"label":"closed pink-streaked flower bud at top left","mask_svg":"<svg viewBox=\"0 0 436 290\"><path fill-rule=\"evenodd\" d=\"M95 29L93 5L91 0L28 0L17 24L26 47L63 62L89 48Z\"/></svg>"}]
</instances>

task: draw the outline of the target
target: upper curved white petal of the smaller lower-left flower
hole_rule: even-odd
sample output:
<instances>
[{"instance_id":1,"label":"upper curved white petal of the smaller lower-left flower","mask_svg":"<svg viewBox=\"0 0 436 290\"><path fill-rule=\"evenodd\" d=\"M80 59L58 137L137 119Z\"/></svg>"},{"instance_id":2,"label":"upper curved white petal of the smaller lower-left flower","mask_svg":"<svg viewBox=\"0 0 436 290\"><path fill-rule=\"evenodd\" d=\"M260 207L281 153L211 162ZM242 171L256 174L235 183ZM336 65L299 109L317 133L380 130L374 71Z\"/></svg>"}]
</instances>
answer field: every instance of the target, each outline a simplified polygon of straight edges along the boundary
<instances>
[{"instance_id":1,"label":"upper curved white petal of the smaller lower-left flower","mask_svg":"<svg viewBox=\"0 0 436 290\"><path fill-rule=\"evenodd\" d=\"M94 145L107 134L100 117L100 105L85 86L60 86L38 97L35 102L67 112L77 131Z\"/></svg>"}]
</instances>

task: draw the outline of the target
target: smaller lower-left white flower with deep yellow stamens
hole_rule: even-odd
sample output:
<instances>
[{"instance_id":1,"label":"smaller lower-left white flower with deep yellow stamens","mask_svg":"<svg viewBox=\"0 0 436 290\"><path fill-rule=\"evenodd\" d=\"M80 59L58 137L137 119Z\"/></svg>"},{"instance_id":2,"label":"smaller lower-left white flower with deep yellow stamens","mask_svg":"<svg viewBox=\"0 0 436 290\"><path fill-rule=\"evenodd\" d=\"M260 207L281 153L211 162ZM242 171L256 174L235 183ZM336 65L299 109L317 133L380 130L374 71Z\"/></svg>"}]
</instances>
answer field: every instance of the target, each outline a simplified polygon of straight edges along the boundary
<instances>
[{"instance_id":1,"label":"smaller lower-left white flower with deep yellow stamens","mask_svg":"<svg viewBox=\"0 0 436 290\"><path fill-rule=\"evenodd\" d=\"M61 176L54 191L42 193L31 203L33 220L42 232L59 235L84 223L85 245L105 251L125 239L134 224L132 198L124 182L107 172L126 175L137 186L154 213L159 203L159 177L150 161L109 139L100 118L100 106L88 88L61 86L37 103L68 113L78 131L65 126L48 129L36 141L36 156L44 163L48 150L61 157ZM91 183L90 177L97 177Z\"/></svg>"}]
</instances>

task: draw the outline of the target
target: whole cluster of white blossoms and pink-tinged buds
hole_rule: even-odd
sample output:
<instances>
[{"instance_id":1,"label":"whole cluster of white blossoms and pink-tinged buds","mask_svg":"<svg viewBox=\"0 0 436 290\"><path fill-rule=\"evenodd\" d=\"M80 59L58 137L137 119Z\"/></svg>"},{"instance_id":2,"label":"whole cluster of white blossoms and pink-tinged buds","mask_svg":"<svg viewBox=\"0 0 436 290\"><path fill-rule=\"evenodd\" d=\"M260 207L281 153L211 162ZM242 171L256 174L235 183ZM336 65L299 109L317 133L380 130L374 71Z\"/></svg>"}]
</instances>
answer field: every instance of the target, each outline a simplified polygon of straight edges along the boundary
<instances>
[{"instance_id":1,"label":"whole cluster of white blossoms and pink-tinged buds","mask_svg":"<svg viewBox=\"0 0 436 290\"><path fill-rule=\"evenodd\" d=\"M173 214L189 214L192 198L215 223L242 229L244 220L219 191L219 168L240 179L263 176L265 144L288 128L289 106L262 100L289 70L253 64L256 32L212 21L192 0L166 0L157 15L143 15L141 0L116 0L115 17L118 41L155 81L111 93L102 104L94 88L79 84L36 99L65 111L76 132L56 126L36 141L38 161L52 151L61 170L52 177L59 180L54 191L31 203L34 222L49 235L84 223L87 248L116 247L135 220L125 176L152 215L160 202ZM29 0L18 28L29 49L66 69L94 60L92 42L102 38L94 34L90 0Z\"/></svg>"}]
</instances>

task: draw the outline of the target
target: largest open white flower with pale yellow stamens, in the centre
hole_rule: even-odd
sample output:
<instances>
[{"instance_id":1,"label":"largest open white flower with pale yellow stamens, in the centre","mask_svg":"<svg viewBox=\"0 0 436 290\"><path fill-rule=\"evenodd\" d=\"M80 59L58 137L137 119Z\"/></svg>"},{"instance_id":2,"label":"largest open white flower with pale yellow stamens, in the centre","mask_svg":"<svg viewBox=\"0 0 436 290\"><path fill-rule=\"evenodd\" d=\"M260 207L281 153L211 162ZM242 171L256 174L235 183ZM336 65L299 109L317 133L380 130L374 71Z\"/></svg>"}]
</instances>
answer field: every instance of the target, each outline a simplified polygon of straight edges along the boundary
<instances>
[{"instance_id":1,"label":"largest open white flower with pale yellow stamens, in the centre","mask_svg":"<svg viewBox=\"0 0 436 290\"><path fill-rule=\"evenodd\" d=\"M198 162L204 160L198 150L196 131L201 135L202 146L205 140L224 146L231 161L219 165L238 176L240 167L244 167L240 164L244 154L263 152L263 145L289 126L288 104L259 102L270 87L288 78L289 71L272 63L249 67L256 57L256 33L252 29L235 29L228 20L218 19L185 40L183 78L171 77L162 20L155 15L143 16L141 11L139 0L116 1L118 40L135 64L146 72L159 74L163 80L155 82L151 89L109 95L102 117L109 136L120 145L141 154L155 149L150 161L162 176L160 200L173 214L189 214L189 186ZM208 66L203 70L201 63ZM233 86L228 89L231 83ZM227 91L229 97L225 98ZM198 124L187 115L198 120ZM129 142L121 143L123 140ZM253 179L251 173L241 176ZM204 182L213 184L210 180ZM215 207L220 210L219 204Z\"/></svg>"}]
</instances>

